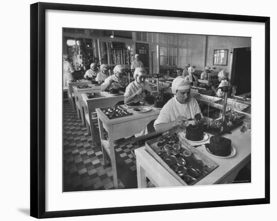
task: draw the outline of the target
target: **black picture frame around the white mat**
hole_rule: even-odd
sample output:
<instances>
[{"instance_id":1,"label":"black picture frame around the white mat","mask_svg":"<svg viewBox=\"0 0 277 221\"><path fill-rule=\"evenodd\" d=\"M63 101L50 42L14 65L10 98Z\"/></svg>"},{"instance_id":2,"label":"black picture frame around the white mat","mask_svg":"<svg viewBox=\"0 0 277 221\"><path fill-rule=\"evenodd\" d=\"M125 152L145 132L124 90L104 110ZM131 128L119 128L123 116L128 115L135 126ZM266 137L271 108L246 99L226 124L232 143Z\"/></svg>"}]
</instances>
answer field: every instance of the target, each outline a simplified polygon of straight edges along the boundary
<instances>
[{"instance_id":1,"label":"black picture frame around the white mat","mask_svg":"<svg viewBox=\"0 0 277 221\"><path fill-rule=\"evenodd\" d=\"M175 210L203 207L220 207L234 205L265 204L270 202L270 18L258 16L242 15L225 15L212 13L195 13L180 11L165 11L153 9L133 9L102 7L88 5L71 5L71 4L53 4L53 3L36 3L32 4L30 10L30 45L31 45L31 145L30 145L30 213L37 218L48 217L65 217L80 215L97 215L111 213L128 213L158 210ZM65 10L78 12L98 12L98 13L115 13L115 14L132 14L147 16L166 16L175 18L193 18L193 19L211 19L224 21L244 21L258 22L265 24L265 189L264 198L226 200L226 201L209 201L193 203L174 203L160 205L128 206L113 208L91 208L79 210L64 211L45 211L45 11L46 10Z\"/></svg>"}]
</instances>

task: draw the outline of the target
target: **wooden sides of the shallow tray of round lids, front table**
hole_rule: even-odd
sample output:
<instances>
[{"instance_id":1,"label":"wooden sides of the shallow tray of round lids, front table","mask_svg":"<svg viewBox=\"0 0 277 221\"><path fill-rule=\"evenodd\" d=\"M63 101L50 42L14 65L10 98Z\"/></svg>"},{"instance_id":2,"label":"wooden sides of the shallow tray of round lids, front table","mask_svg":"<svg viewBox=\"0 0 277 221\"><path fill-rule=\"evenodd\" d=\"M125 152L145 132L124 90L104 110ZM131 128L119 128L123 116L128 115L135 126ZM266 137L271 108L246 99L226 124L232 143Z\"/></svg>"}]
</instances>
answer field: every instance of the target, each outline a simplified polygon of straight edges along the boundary
<instances>
[{"instance_id":1,"label":"wooden sides of the shallow tray of round lids, front table","mask_svg":"<svg viewBox=\"0 0 277 221\"><path fill-rule=\"evenodd\" d=\"M210 166L211 167L211 171L209 173L201 173L201 175L199 177L196 178L195 181L191 182L190 184L187 184L181 177L179 177L177 175L177 173L168 165L164 162L164 160L157 154L157 143L159 141L161 141L163 139L163 136L157 137L155 139L152 140L147 140L145 142L145 146L146 146L146 150L147 152L152 155L156 161L158 161L172 176L174 176L179 182L181 182L184 186L187 185L194 185L195 183L197 183L199 180L201 180L202 178L204 178L206 175L212 173L217 167L219 167L219 165L217 163L215 163L214 161L212 161L209 157L205 156L204 154L202 154L200 151L198 151L196 148L194 148L193 146L191 146L188 142L186 142L185 140L183 140L180 136L179 136L179 140L182 142L181 144L181 148L182 150L189 150L192 155L194 156L194 158L196 160L200 160L203 163L203 166ZM186 160L186 159L185 159Z\"/></svg>"}]
</instances>

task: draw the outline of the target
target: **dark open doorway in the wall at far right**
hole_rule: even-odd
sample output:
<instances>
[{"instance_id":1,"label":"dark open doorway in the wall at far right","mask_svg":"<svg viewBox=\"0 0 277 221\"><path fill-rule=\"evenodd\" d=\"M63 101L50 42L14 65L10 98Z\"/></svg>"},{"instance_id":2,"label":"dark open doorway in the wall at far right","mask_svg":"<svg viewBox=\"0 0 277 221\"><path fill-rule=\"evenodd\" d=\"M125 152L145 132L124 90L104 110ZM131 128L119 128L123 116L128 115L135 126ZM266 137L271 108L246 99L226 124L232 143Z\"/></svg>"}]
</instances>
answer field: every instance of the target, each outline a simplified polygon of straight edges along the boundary
<instances>
[{"instance_id":1,"label":"dark open doorway in the wall at far right","mask_svg":"<svg viewBox=\"0 0 277 221\"><path fill-rule=\"evenodd\" d=\"M251 92L251 48L234 48L231 84L237 86L237 95Z\"/></svg>"}]
</instances>

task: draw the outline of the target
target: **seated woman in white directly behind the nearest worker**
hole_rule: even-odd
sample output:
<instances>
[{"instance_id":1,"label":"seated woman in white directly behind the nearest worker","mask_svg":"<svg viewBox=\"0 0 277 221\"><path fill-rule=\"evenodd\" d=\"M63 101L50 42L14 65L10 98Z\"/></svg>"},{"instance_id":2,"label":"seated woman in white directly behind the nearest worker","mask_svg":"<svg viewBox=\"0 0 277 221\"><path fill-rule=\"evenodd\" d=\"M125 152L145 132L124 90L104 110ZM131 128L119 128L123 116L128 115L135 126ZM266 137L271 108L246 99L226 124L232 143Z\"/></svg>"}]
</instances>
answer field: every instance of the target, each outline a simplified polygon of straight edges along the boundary
<instances>
[{"instance_id":1,"label":"seated woman in white directly behind the nearest worker","mask_svg":"<svg viewBox=\"0 0 277 221\"><path fill-rule=\"evenodd\" d=\"M136 67L134 70L134 81L131 82L124 94L124 103L137 102L144 100L144 86L146 79L146 70L143 67Z\"/></svg>"}]
</instances>

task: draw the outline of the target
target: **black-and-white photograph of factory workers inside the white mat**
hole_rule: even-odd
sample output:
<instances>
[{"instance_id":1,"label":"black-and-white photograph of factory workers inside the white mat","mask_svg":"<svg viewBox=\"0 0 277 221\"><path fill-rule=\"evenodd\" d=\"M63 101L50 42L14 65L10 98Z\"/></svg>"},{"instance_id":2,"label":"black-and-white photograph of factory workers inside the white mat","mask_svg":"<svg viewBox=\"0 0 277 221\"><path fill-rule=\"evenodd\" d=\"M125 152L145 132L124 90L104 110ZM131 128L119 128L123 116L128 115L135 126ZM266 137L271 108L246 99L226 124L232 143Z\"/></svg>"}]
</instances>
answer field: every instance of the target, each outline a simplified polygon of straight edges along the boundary
<instances>
[{"instance_id":1,"label":"black-and-white photograph of factory workers inside the white mat","mask_svg":"<svg viewBox=\"0 0 277 221\"><path fill-rule=\"evenodd\" d=\"M251 36L61 31L63 192L251 184Z\"/></svg>"}]
</instances>

